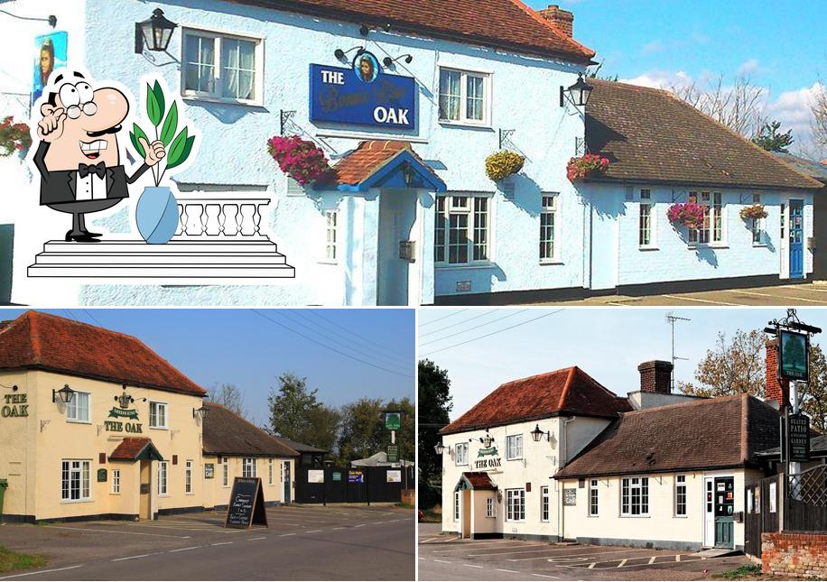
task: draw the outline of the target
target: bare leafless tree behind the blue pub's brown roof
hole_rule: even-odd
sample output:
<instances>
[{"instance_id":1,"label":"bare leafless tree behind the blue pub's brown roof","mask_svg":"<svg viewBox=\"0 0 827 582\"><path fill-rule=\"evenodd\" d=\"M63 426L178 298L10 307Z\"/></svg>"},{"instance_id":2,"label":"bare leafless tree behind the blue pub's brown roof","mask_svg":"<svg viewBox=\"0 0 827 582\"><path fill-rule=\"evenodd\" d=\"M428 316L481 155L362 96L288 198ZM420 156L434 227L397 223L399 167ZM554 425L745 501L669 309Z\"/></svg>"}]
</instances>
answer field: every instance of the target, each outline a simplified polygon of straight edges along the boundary
<instances>
[{"instance_id":1,"label":"bare leafless tree behind the blue pub's brown roof","mask_svg":"<svg viewBox=\"0 0 827 582\"><path fill-rule=\"evenodd\" d=\"M765 90L754 85L747 75L733 79L731 86L725 86L720 76L711 79L706 88L692 81L670 89L678 98L744 137L752 137L764 125Z\"/></svg>"}]
</instances>

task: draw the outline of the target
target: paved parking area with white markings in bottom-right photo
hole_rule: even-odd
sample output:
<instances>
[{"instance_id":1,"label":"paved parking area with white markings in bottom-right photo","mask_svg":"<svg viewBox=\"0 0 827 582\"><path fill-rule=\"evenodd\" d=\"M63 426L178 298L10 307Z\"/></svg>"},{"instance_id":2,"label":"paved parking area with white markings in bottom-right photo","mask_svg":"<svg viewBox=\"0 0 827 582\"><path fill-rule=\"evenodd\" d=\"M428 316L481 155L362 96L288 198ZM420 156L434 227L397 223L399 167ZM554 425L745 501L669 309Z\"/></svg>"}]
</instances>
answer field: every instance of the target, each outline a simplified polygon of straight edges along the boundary
<instances>
[{"instance_id":1,"label":"paved parking area with white markings in bottom-right photo","mask_svg":"<svg viewBox=\"0 0 827 582\"><path fill-rule=\"evenodd\" d=\"M703 579L746 563L743 556L707 559L691 551L458 540L432 524L421 524L419 533L422 580Z\"/></svg>"}]
</instances>

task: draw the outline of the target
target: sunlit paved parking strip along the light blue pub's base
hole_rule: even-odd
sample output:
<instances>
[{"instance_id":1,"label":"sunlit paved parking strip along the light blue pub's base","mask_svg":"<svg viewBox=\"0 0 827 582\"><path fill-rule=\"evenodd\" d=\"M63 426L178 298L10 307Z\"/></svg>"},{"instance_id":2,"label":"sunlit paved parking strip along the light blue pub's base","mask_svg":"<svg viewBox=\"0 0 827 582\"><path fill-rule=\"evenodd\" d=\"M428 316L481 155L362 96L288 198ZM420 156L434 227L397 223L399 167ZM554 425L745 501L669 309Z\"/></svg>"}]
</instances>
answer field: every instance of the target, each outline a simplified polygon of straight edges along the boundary
<instances>
[{"instance_id":1,"label":"sunlit paved parking strip along the light blue pub's base","mask_svg":"<svg viewBox=\"0 0 827 582\"><path fill-rule=\"evenodd\" d=\"M827 283L810 282L768 287L752 287L726 291L697 291L691 293L665 293L658 295L607 295L585 300L549 301L539 305L610 305L618 307L639 306L783 306L807 307L827 305Z\"/></svg>"}]
</instances>

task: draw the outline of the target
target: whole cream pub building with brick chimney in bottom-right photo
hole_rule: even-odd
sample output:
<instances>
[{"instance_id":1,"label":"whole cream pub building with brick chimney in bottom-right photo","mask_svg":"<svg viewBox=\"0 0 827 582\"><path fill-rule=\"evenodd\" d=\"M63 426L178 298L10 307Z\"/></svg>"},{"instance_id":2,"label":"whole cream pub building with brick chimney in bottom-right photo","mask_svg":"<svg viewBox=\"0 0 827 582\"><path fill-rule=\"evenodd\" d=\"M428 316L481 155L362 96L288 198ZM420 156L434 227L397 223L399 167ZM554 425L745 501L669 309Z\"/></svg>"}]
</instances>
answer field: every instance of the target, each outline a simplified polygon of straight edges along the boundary
<instances>
[{"instance_id":1,"label":"whole cream pub building with brick chimney in bottom-right photo","mask_svg":"<svg viewBox=\"0 0 827 582\"><path fill-rule=\"evenodd\" d=\"M576 367L506 383L441 430L442 530L743 549L744 490L766 476L777 402L673 394L671 364L638 370L626 397Z\"/></svg>"}]
</instances>

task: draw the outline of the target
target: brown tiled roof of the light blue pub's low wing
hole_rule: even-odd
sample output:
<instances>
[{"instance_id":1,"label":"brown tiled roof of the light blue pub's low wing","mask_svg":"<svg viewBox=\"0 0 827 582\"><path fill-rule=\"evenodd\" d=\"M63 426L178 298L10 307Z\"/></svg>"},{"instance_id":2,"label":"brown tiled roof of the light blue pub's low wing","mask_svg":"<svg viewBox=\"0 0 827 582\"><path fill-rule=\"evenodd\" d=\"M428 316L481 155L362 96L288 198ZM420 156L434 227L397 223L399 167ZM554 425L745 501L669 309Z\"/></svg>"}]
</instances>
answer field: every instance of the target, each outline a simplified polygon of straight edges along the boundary
<instances>
[{"instance_id":1,"label":"brown tiled roof of the light blue pub's low wing","mask_svg":"<svg viewBox=\"0 0 827 582\"><path fill-rule=\"evenodd\" d=\"M820 189L822 184L672 93L600 79L586 106L589 151L609 159L590 181L698 188Z\"/></svg>"}]
</instances>

